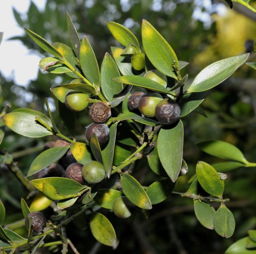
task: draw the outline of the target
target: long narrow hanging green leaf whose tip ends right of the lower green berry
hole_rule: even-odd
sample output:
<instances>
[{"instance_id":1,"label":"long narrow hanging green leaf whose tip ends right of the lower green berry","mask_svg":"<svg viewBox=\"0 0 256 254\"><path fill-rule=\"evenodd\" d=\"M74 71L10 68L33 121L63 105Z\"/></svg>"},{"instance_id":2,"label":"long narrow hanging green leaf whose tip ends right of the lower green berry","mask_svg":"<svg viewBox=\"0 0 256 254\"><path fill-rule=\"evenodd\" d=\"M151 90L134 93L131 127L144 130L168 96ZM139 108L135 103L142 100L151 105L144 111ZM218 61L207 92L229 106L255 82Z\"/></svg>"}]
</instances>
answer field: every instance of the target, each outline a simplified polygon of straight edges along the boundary
<instances>
[{"instance_id":1,"label":"long narrow hanging green leaf whose tip ends right of the lower green berry","mask_svg":"<svg viewBox=\"0 0 256 254\"><path fill-rule=\"evenodd\" d=\"M106 176L110 178L111 170L112 170L112 163L114 158L114 147L116 142L116 128L118 122L112 124L109 128L109 139L106 146L102 149L102 159L103 165L106 170Z\"/></svg>"}]
</instances>

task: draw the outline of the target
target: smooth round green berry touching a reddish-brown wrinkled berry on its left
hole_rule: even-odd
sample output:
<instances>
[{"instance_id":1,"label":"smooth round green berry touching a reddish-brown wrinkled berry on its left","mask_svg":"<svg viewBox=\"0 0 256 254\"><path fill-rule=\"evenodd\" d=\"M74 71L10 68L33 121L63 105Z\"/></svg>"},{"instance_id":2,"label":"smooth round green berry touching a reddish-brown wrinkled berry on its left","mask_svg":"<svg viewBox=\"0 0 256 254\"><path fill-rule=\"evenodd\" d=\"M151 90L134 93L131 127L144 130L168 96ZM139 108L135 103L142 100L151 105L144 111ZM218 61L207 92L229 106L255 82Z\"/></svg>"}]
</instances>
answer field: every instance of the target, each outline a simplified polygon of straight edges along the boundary
<instances>
[{"instance_id":1,"label":"smooth round green berry touching a reddish-brown wrinkled berry on its left","mask_svg":"<svg viewBox=\"0 0 256 254\"><path fill-rule=\"evenodd\" d=\"M104 166L99 161L89 161L82 168L82 176L87 183L99 183L105 175Z\"/></svg>"}]
</instances>

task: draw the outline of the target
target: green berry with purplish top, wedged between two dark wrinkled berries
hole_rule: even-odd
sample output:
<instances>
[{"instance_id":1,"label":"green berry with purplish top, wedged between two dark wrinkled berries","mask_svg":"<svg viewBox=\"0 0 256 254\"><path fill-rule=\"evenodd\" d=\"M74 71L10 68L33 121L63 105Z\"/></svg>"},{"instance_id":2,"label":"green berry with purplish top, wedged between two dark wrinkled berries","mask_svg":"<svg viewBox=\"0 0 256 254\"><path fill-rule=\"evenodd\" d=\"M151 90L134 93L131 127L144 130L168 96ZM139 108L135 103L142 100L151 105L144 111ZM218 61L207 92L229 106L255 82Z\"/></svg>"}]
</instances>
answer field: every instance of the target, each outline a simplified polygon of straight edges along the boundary
<instances>
[{"instance_id":1,"label":"green berry with purplish top, wedged between two dark wrinkled berries","mask_svg":"<svg viewBox=\"0 0 256 254\"><path fill-rule=\"evenodd\" d=\"M144 93L138 102L138 108L145 117L155 116L155 107L163 97L157 92Z\"/></svg>"}]
</instances>

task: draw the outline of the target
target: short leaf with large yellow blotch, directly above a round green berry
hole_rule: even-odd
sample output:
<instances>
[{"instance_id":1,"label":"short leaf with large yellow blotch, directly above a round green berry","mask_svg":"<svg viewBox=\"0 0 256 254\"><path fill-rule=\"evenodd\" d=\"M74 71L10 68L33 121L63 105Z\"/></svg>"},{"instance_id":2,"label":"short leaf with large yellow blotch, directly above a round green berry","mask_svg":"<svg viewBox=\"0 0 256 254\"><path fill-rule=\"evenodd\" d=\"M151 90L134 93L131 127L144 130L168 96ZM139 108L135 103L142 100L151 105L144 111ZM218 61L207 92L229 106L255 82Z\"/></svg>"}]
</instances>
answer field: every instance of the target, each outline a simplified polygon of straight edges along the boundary
<instances>
[{"instance_id":1,"label":"short leaf with large yellow blotch, directly above a round green berry","mask_svg":"<svg viewBox=\"0 0 256 254\"><path fill-rule=\"evenodd\" d=\"M85 164L89 161L92 161L91 149L84 143L74 142L70 146L72 155L81 164Z\"/></svg>"}]
</instances>

